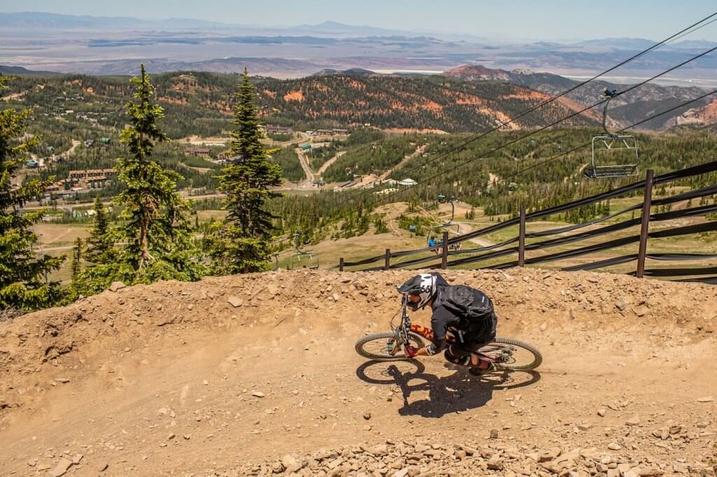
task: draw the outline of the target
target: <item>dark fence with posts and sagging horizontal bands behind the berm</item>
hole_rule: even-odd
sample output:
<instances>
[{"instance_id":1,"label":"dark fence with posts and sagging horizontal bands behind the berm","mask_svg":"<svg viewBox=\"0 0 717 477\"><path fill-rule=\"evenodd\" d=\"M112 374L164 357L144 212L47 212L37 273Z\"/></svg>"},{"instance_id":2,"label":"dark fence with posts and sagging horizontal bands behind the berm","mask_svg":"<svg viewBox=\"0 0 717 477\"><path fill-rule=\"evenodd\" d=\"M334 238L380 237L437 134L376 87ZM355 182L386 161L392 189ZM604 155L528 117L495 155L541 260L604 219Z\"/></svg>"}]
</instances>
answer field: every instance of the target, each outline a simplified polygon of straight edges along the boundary
<instances>
[{"instance_id":1,"label":"dark fence with posts and sagging horizontal bands behind the berm","mask_svg":"<svg viewBox=\"0 0 717 477\"><path fill-rule=\"evenodd\" d=\"M589 270L597 269L606 266L613 266L617 264L625 264L630 261L637 261L635 271L632 275L642 276L697 276L695 278L682 279L680 281L702 281L710 284L717 284L717 267L701 267L701 268L669 268L669 269L645 269L646 259L655 259L661 261L695 261L703 259L716 259L716 254L703 254L703 253L679 253L679 254L650 254L647 250L648 238L664 238L673 237L680 235L687 235L690 233L701 233L717 230L717 221L705 221L703 223L697 223L694 225L681 226L676 228L668 228L660 231L650 232L650 223L673 220L675 218L684 217L695 217L695 216L706 216L708 213L717 212L717 203L707 204L698 207L684 208L678 211L668 211L663 213L650 213L650 209L653 206L670 206L673 203L682 201L690 201L695 198L707 198L717 193L717 184L711 184L703 188L695 189L685 193L679 193L674 196L664 197L655 199L652 197L652 188L654 186L661 186L663 184L673 183L676 180L688 178L694 175L702 175L706 173L712 173L717 170L717 161L698 165L692 168L685 168L683 170L677 170L671 173L655 176L652 170L647 170L645 180L640 180L636 183L623 186L621 188L614 189L605 193L597 194L596 196L582 198L577 201L564 203L559 206L546 208L541 211L535 211L532 213L526 213L525 208L521 208L519 216L511 220L481 228L480 230L465 233L460 236L449 238L448 233L443 233L442 244L437 246L428 246L423 249L404 250L404 251L391 251L386 249L384 254L379 256L370 257L359 261L346 261L343 258L339 259L338 269L340 271L346 270L348 267L364 267L366 268L353 268L354 271L376 271L376 270L389 270L389 269L402 269L422 265L421 268L426 269L446 269L451 266L462 266L465 264L479 264L483 261L497 259L504 256L516 254L517 258L515 261L508 261L506 263L485 266L483 268L491 269L503 269L511 266L526 266L528 264L540 264L547 261L556 261L560 259L571 258L575 256L581 256L585 254L592 254L597 251L604 251L609 249L615 249L620 246L637 243L637 254L628 254L622 256L615 256L610 259L604 259L599 261L593 261L587 264L580 264L577 266L564 267L563 270L574 271L574 270ZM531 219L547 217L555 213L561 213L569 211L574 208L581 206L587 206L592 203L605 201L609 198L617 198L626 196L637 191L643 191L642 203L635 206L630 206L610 213L607 216L596 218L592 221L579 223L570 226L561 226L558 228L552 228L546 231L527 232L526 223ZM641 210L641 216L638 218L631 218L625 221L619 221L617 223L609 223L608 225L600 226L598 228L585 229L580 231L581 228L587 228L588 226L594 226L604 221L608 221L611 218L621 216L625 213L635 212ZM491 246L484 246L473 249L458 248L457 244L463 244L472 238L483 236L488 233L500 231L504 228L518 225L518 236L509 238ZM617 231L622 231L627 228L640 225L640 234L634 236L622 236L619 238L612 238L603 241L599 244L592 244L589 246L581 246L576 249L569 249L566 251L560 251L553 254L543 254L530 259L526 259L526 251L536 251L547 249L552 246L570 244L573 242L582 241L586 238L607 235ZM578 231L577 233L565 236L564 234ZM557 236L556 238L549 238L534 242L532 244L526 244L526 238L539 238ZM515 245L512 245L515 244ZM512 246L511 246L512 245ZM417 259L411 259L408 261L391 261L391 259L399 259L414 254L423 254L427 251L440 250L440 256L424 256ZM435 262L440 258L440 262ZM376 265L376 262L383 261L382 265ZM477 268L480 268L477 266Z\"/></svg>"}]
</instances>

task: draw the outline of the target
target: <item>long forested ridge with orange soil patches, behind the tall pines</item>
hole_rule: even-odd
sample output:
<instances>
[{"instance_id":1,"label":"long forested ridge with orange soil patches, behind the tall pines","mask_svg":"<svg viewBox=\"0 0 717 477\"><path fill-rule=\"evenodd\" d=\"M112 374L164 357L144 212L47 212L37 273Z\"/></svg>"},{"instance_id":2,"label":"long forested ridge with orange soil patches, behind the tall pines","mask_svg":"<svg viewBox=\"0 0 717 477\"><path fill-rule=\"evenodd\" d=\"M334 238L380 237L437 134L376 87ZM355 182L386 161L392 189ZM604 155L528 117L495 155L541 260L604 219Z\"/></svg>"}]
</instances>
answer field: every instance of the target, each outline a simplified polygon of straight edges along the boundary
<instances>
[{"instance_id":1,"label":"long forested ridge with orange soil patches, behind the tall pines","mask_svg":"<svg viewBox=\"0 0 717 477\"><path fill-rule=\"evenodd\" d=\"M217 135L227 128L237 76L204 72L157 74L157 99L171 138ZM299 80L255 78L262 120L295 129L374 127L475 131L510 120L546 96L503 82L464 82L446 77L327 75ZM72 110L104 117L121 127L130 97L125 77L23 76L11 83L13 101L49 117ZM554 104L522 117L511 128L535 127L566 115ZM571 124L593 122L587 117Z\"/></svg>"}]
</instances>

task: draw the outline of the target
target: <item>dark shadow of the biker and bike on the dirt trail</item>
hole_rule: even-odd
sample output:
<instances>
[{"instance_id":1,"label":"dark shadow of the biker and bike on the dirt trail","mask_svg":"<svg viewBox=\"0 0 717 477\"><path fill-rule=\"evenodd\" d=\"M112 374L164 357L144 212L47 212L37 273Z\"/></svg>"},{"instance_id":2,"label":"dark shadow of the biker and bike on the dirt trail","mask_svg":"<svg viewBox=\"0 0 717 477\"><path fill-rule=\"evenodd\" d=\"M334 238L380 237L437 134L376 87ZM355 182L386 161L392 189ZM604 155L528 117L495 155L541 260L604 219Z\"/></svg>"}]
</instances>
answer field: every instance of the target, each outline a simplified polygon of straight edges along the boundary
<instances>
[{"instance_id":1,"label":"dark shadow of the biker and bike on the dirt trail","mask_svg":"<svg viewBox=\"0 0 717 477\"><path fill-rule=\"evenodd\" d=\"M375 365L386 367L379 373L373 373L380 375L380 379L371 377L367 373L369 367ZM455 372L439 377L426 372L422 362L416 360L400 362L400 365L399 362L389 364L381 361L369 361L359 366L356 375L366 382L396 385L403 398L403 406L398 410L399 415L419 415L424 418L440 418L446 414L480 408L493 398L495 390L517 389L533 385L541 379L541 375L537 371L503 371L473 376L468 374L467 370L457 370L447 363L446 366ZM415 370L412 370L412 367L415 367ZM521 379L523 377L528 379ZM419 380L419 382L413 384L414 380ZM428 392L427 398L409 401L409 397L413 393L426 391Z\"/></svg>"}]
</instances>

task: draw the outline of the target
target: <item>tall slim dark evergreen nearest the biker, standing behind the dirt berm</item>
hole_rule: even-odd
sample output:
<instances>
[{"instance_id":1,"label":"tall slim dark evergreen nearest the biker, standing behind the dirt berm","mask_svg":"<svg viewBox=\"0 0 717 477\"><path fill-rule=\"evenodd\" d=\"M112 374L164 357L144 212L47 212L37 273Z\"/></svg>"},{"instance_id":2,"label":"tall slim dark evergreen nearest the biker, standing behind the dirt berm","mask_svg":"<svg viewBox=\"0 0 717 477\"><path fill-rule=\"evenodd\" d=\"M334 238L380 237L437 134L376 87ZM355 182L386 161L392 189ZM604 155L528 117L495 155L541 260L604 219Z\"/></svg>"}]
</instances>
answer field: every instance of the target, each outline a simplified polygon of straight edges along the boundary
<instances>
[{"instance_id":1,"label":"tall slim dark evergreen nearest the biker, standing behind the dirt berm","mask_svg":"<svg viewBox=\"0 0 717 477\"><path fill-rule=\"evenodd\" d=\"M257 117L254 87L244 69L232 123L232 154L236 163L222 169L219 190L227 194L229 211L222 223L210 228L206 240L216 274L247 273L267 269L272 215L264 205L280 194L269 190L281 184L281 168L270 163L260 142L263 132Z\"/></svg>"}]
</instances>

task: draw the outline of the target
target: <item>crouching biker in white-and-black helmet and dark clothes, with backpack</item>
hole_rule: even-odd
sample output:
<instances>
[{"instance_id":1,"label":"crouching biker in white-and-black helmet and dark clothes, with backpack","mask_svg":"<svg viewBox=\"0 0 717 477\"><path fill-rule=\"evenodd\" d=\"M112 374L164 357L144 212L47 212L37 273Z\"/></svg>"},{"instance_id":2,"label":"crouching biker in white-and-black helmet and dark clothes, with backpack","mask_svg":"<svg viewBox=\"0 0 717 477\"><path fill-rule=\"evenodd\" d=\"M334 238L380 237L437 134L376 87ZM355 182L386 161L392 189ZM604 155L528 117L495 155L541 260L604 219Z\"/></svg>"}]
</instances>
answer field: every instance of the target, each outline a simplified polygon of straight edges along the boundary
<instances>
[{"instance_id":1,"label":"crouching biker in white-and-black helmet and dark clothes, with backpack","mask_svg":"<svg viewBox=\"0 0 717 477\"><path fill-rule=\"evenodd\" d=\"M413 276L399 286L398 291L407 295L412 311L429 305L433 312L433 342L420 349L407 346L407 357L432 356L445 349L448 362L469 367L468 371L473 375L493 370L493 362L475 353L495 339L498 322L493 302L482 291L465 285L449 285L435 272ZM456 342L446 347L448 330L456 337Z\"/></svg>"}]
</instances>

